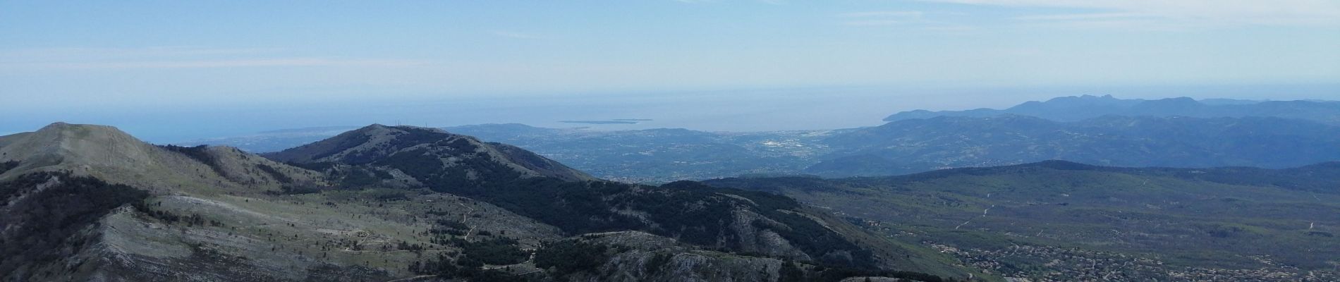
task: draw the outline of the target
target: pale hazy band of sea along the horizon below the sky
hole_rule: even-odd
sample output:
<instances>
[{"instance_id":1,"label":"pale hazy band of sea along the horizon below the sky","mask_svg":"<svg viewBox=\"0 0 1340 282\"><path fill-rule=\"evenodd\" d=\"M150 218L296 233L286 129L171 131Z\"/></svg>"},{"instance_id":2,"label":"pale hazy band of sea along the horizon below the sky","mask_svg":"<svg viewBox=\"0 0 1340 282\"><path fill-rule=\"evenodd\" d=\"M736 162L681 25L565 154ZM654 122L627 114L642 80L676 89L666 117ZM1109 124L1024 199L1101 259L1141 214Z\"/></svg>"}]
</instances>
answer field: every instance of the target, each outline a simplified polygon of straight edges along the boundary
<instances>
[{"instance_id":1,"label":"pale hazy band of sea along the horizon below the sky","mask_svg":"<svg viewBox=\"0 0 1340 282\"><path fill-rule=\"evenodd\" d=\"M450 127L523 123L592 130L689 128L701 131L836 130L883 124L887 115L911 110L1006 108L1057 96L1114 95L1119 99L1305 100L1331 99L1336 86L1159 86L1033 88L811 87L694 92L574 94L457 99L311 100L234 104L212 108L62 112L46 119L23 110L0 114L0 135L27 132L54 122L117 126L155 143L240 136L268 130L406 124ZM1288 92L1288 94L1278 94ZM578 124L561 120L651 119L636 124Z\"/></svg>"}]
</instances>

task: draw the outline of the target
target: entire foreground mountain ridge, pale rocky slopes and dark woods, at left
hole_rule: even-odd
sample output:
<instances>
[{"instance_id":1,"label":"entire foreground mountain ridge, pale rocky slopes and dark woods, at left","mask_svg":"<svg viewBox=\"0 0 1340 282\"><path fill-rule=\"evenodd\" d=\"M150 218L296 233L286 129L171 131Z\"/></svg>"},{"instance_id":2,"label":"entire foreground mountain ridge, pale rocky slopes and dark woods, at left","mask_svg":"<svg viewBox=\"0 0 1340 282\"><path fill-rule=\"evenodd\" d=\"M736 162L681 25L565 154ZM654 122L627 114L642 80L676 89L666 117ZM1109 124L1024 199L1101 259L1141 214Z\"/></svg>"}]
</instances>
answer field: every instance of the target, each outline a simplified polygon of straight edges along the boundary
<instances>
[{"instance_id":1,"label":"entire foreground mountain ridge, pale rocky slopes and dark woods, at left","mask_svg":"<svg viewBox=\"0 0 1340 282\"><path fill-rule=\"evenodd\" d=\"M0 179L0 270L11 281L938 281L974 273L785 196L604 182L431 128L374 124L342 135L273 160L230 147L154 146L114 127L54 124L7 136L15 142L0 150L19 168ZM54 225L44 219L62 223L46 229ZM627 245L645 237L677 247ZM556 254L595 259L539 259Z\"/></svg>"}]
</instances>

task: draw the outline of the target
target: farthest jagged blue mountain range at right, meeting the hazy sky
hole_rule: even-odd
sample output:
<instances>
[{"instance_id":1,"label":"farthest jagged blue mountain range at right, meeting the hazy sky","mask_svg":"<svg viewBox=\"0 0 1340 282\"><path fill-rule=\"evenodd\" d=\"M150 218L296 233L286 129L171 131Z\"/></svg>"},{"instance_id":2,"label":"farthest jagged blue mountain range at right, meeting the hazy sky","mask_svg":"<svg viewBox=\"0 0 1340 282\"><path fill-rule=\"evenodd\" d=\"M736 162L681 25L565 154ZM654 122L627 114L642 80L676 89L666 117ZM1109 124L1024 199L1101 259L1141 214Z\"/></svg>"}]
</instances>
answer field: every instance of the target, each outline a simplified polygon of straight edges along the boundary
<instances>
[{"instance_id":1,"label":"farthest jagged blue mountain range at right, meeting the hazy sky","mask_svg":"<svg viewBox=\"0 0 1340 282\"><path fill-rule=\"evenodd\" d=\"M1245 118L1274 116L1306 119L1320 123L1340 123L1340 102L1327 100L1233 100L1170 98L1158 100L1118 99L1104 96L1064 96L1047 102L1028 102L1005 110L978 108L967 111L904 111L884 118L884 122L929 119L935 116L990 118L997 115L1026 115L1057 122L1079 122L1106 115L1120 116L1190 116L1190 118Z\"/></svg>"}]
</instances>

